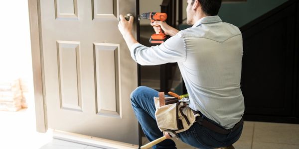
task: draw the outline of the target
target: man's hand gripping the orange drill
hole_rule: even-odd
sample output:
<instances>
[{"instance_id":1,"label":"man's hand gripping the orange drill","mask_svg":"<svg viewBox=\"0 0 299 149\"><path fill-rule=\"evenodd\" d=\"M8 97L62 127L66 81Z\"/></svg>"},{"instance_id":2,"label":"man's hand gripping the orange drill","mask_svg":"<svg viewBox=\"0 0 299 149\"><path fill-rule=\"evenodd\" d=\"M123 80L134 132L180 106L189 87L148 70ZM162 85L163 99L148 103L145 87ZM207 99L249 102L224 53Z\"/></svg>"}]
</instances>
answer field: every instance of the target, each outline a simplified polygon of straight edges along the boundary
<instances>
[{"instance_id":1,"label":"man's hand gripping the orange drill","mask_svg":"<svg viewBox=\"0 0 299 149\"><path fill-rule=\"evenodd\" d=\"M156 33L160 32L161 28L164 31L164 33L169 36L174 36L176 33L179 32L177 29L169 26L164 21L154 21L153 23L150 23L150 25L153 27L153 29ZM158 26L158 25L160 25L160 26Z\"/></svg>"}]
</instances>

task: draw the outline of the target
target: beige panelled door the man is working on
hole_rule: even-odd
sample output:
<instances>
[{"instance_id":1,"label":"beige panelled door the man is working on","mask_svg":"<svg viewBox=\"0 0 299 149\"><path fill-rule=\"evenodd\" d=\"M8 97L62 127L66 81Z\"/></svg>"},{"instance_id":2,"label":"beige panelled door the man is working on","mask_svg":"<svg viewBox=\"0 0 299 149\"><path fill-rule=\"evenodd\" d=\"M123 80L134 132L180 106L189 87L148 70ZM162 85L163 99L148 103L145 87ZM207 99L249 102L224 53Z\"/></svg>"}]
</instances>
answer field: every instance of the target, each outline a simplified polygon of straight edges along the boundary
<instances>
[{"instance_id":1,"label":"beige panelled door the man is working on","mask_svg":"<svg viewBox=\"0 0 299 149\"><path fill-rule=\"evenodd\" d=\"M40 12L48 127L137 145L137 64L118 30L136 0L40 0Z\"/></svg>"}]
</instances>

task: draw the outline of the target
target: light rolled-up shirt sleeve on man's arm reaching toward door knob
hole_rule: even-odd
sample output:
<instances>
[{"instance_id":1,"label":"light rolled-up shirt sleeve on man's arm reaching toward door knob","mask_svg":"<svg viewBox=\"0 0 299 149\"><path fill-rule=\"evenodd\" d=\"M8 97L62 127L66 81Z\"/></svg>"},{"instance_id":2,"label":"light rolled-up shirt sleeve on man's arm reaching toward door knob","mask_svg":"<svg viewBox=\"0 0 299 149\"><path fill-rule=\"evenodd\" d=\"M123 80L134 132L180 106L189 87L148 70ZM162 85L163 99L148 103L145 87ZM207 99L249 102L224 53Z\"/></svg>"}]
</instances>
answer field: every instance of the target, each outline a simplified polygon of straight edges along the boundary
<instances>
[{"instance_id":1,"label":"light rolled-up shirt sleeve on man's arm reaching toward door knob","mask_svg":"<svg viewBox=\"0 0 299 149\"><path fill-rule=\"evenodd\" d=\"M140 65L160 65L184 62L186 50L180 32L158 46L146 47L136 43L130 48L131 57Z\"/></svg>"}]
</instances>

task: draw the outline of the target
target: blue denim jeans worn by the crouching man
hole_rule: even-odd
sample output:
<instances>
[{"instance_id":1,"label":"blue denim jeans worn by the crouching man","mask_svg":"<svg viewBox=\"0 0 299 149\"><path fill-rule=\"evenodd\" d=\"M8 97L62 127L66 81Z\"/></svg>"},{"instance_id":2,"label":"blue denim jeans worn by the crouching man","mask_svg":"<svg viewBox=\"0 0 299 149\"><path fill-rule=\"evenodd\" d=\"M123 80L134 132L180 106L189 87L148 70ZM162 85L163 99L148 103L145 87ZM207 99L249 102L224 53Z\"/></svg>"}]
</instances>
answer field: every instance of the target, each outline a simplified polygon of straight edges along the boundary
<instances>
[{"instance_id":1,"label":"blue denim jeans worn by the crouching man","mask_svg":"<svg viewBox=\"0 0 299 149\"><path fill-rule=\"evenodd\" d=\"M163 136L163 133L160 132L155 120L153 97L158 97L158 92L146 86L139 86L131 93L131 103L134 113L150 142ZM202 115L201 119L206 119L216 124L204 115ZM195 122L187 131L178 133L177 135L181 141L190 146L200 149L213 149L227 147L235 143L240 138L242 129L243 124L239 129L232 131L227 135L223 135L209 130ZM171 139L166 139L152 148L176 149L175 143Z\"/></svg>"}]
</instances>

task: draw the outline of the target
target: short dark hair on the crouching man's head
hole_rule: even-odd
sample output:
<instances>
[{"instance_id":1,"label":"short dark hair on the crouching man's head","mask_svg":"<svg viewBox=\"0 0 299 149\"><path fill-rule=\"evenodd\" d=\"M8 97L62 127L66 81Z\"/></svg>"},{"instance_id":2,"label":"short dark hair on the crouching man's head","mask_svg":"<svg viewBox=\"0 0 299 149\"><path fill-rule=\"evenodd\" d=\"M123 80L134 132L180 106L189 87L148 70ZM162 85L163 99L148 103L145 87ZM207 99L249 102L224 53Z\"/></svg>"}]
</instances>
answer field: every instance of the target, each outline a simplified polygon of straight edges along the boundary
<instances>
[{"instance_id":1,"label":"short dark hair on the crouching man's head","mask_svg":"<svg viewBox=\"0 0 299 149\"><path fill-rule=\"evenodd\" d=\"M191 5L195 0L192 0ZM222 0L198 0L201 4L201 9L206 15L217 15L221 6Z\"/></svg>"}]
</instances>

